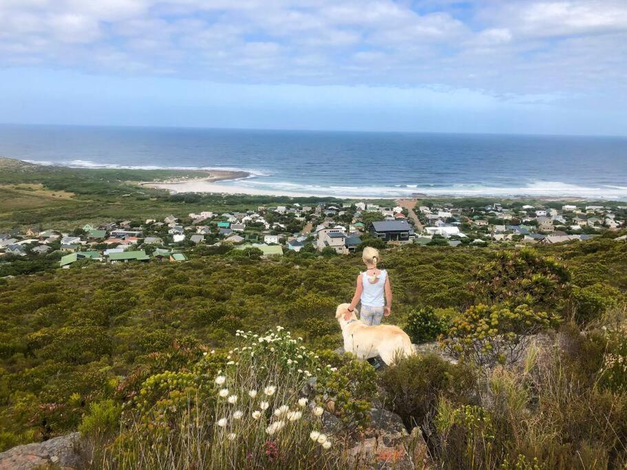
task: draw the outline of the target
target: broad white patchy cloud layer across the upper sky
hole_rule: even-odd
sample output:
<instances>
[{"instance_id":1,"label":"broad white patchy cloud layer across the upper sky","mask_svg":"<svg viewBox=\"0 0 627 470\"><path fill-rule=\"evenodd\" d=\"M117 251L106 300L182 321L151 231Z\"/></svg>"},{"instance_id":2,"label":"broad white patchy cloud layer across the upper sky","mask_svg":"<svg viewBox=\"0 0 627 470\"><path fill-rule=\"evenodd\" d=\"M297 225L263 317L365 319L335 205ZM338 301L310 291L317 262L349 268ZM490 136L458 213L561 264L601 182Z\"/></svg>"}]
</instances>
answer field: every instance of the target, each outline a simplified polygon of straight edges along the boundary
<instances>
[{"instance_id":1,"label":"broad white patchy cloud layer across the upper sky","mask_svg":"<svg viewBox=\"0 0 627 470\"><path fill-rule=\"evenodd\" d=\"M613 95L624 0L0 0L0 62L210 81Z\"/></svg>"}]
</instances>

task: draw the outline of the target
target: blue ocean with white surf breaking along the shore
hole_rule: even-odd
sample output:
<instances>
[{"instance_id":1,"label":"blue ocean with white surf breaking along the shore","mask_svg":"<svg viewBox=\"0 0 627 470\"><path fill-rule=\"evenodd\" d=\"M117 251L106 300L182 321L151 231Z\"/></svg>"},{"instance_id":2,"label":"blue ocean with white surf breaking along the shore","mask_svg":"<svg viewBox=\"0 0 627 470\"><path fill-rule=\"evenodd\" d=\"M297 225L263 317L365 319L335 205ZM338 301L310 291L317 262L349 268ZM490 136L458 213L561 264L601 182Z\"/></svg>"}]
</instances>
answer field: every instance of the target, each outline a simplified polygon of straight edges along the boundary
<instances>
[{"instance_id":1,"label":"blue ocean with white surf breaking along the shore","mask_svg":"<svg viewBox=\"0 0 627 470\"><path fill-rule=\"evenodd\" d=\"M0 126L0 156L94 168L244 169L255 191L627 200L627 138Z\"/></svg>"}]
</instances>

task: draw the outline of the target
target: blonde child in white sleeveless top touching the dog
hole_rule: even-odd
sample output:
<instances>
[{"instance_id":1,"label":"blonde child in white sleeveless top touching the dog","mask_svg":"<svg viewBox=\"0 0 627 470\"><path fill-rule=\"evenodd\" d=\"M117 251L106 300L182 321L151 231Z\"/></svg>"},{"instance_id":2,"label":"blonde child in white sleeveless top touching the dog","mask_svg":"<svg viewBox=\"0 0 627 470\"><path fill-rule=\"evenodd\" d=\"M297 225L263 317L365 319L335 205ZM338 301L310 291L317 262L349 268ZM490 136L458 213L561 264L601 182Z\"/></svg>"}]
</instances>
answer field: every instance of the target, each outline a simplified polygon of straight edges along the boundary
<instances>
[{"instance_id":1,"label":"blonde child in white sleeveless top touching the dog","mask_svg":"<svg viewBox=\"0 0 627 470\"><path fill-rule=\"evenodd\" d=\"M357 303L361 301L361 310L359 319L366 325L379 325L383 316L389 317L392 313L392 287L390 286L390 278L387 277L385 269L379 269L376 265L381 261L379 251L371 246L363 248L363 264L366 270L357 276L357 287L355 295L348 306L346 320L350 319L350 315ZM385 298L384 298L385 295ZM387 305L385 301L387 300Z\"/></svg>"}]
</instances>

